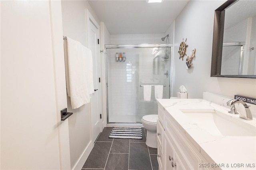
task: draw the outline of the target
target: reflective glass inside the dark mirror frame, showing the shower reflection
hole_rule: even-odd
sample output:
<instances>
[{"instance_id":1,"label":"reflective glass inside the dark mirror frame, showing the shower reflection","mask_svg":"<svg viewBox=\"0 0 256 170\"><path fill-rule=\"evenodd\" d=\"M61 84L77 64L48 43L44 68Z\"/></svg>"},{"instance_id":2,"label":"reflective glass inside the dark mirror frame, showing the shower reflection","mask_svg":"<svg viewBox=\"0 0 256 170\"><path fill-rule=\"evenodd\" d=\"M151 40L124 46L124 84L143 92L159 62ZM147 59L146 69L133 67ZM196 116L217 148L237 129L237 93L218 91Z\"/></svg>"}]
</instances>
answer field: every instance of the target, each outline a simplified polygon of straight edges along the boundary
<instances>
[{"instance_id":1,"label":"reflective glass inside the dark mirror frame, showing the shower reflection","mask_svg":"<svg viewBox=\"0 0 256 170\"><path fill-rule=\"evenodd\" d=\"M225 11L222 75L256 75L256 1L240 0Z\"/></svg>"}]
</instances>

